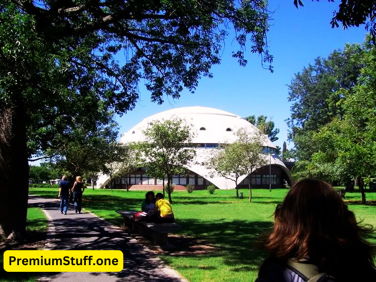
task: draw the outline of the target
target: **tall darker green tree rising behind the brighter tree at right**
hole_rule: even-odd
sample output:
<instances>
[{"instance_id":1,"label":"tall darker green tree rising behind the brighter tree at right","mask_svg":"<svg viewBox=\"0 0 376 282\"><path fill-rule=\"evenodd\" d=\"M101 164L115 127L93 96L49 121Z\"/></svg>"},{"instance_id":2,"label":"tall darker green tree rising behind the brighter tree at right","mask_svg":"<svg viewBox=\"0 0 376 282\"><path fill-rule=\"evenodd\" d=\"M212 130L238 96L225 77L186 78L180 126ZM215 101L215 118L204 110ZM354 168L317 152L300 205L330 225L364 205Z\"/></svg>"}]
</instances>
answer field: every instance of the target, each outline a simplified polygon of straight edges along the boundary
<instances>
[{"instance_id":1,"label":"tall darker green tree rising behind the brighter tree at right","mask_svg":"<svg viewBox=\"0 0 376 282\"><path fill-rule=\"evenodd\" d=\"M288 100L293 104L287 122L298 160L310 160L317 151L312 143L313 134L333 117L343 115L343 95L338 90L357 84L364 52L367 50L358 44L346 44L343 51L317 58L292 79Z\"/></svg>"}]
</instances>

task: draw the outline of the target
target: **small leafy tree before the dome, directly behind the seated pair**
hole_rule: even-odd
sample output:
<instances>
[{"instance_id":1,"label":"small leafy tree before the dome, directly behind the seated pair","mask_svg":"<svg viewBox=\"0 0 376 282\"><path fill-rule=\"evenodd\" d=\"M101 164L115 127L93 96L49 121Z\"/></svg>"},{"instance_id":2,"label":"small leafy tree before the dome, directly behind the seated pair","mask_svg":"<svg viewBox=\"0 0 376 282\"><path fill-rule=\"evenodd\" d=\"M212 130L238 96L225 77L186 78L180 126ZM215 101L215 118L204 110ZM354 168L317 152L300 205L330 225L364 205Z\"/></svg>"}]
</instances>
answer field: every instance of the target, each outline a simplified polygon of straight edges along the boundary
<instances>
[{"instance_id":1,"label":"small leafy tree before the dome, directly behind the seated pair","mask_svg":"<svg viewBox=\"0 0 376 282\"><path fill-rule=\"evenodd\" d=\"M178 118L151 122L143 133L146 140L138 143L137 147L143 153L147 173L167 178L167 192L172 203L172 176L185 173L184 167L196 155L196 151L190 146L194 133L188 124Z\"/></svg>"}]
</instances>

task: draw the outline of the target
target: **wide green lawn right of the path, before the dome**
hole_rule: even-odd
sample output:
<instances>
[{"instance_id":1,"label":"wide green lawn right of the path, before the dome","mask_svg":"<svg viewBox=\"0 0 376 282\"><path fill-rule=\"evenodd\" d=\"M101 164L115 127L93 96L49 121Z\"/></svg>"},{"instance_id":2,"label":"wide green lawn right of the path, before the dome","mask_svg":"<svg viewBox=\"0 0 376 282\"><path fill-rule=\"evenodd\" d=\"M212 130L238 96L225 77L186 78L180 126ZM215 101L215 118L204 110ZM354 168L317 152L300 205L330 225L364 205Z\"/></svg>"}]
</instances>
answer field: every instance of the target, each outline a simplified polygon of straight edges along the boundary
<instances>
[{"instance_id":1,"label":"wide green lawn right of the path, before the dome","mask_svg":"<svg viewBox=\"0 0 376 282\"><path fill-rule=\"evenodd\" d=\"M288 190L252 190L252 203L248 190L244 199L236 199L234 190L175 191L172 194L176 222L182 225L179 234L208 242L215 251L199 255L161 255L169 265L190 281L253 281L265 259L260 244L273 222L277 203L283 201ZM56 189L32 188L31 194L56 197ZM116 210L140 209L145 192L114 190L85 190L83 207L96 215L122 225ZM363 223L376 226L376 205L360 205L359 192L346 193L345 201ZM367 200L376 202L376 193L367 193ZM376 244L376 235L368 238Z\"/></svg>"}]
</instances>

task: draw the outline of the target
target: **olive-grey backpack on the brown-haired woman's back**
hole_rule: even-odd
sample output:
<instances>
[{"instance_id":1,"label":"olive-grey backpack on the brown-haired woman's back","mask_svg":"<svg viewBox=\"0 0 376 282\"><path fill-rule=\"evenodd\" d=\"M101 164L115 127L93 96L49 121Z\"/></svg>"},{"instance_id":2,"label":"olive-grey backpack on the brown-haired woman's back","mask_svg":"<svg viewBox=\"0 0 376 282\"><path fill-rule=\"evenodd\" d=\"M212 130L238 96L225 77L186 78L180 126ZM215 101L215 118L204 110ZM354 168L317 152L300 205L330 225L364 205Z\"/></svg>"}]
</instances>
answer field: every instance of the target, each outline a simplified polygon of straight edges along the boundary
<instances>
[{"instance_id":1,"label":"olive-grey backpack on the brown-haired woman's back","mask_svg":"<svg viewBox=\"0 0 376 282\"><path fill-rule=\"evenodd\" d=\"M298 274L304 281L307 282L326 282L333 281L334 278L325 273L319 272L317 266L307 263L307 261L288 260L287 267Z\"/></svg>"}]
</instances>

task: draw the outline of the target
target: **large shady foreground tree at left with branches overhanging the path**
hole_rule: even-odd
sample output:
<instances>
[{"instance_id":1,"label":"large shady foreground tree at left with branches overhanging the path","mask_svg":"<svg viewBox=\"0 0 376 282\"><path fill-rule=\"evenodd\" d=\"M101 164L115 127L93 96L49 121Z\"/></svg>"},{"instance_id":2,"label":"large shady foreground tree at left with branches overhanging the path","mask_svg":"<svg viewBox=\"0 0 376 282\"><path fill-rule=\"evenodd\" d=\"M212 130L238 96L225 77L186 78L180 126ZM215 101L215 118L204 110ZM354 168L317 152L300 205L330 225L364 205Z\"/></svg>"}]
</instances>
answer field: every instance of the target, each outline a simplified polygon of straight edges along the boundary
<instances>
[{"instance_id":1,"label":"large shady foreground tree at left with branches overhanging the path","mask_svg":"<svg viewBox=\"0 0 376 282\"><path fill-rule=\"evenodd\" d=\"M151 100L194 91L220 63L227 29L272 62L264 1L12 1L0 5L0 233L25 231L28 158L78 122L95 129L122 114L145 81ZM125 55L120 64L119 54ZM271 66L268 66L272 70ZM89 109L89 111L85 110ZM92 109L98 109L92 111ZM13 179L18 179L14 183ZM10 200L11 199L11 200Z\"/></svg>"}]
</instances>

